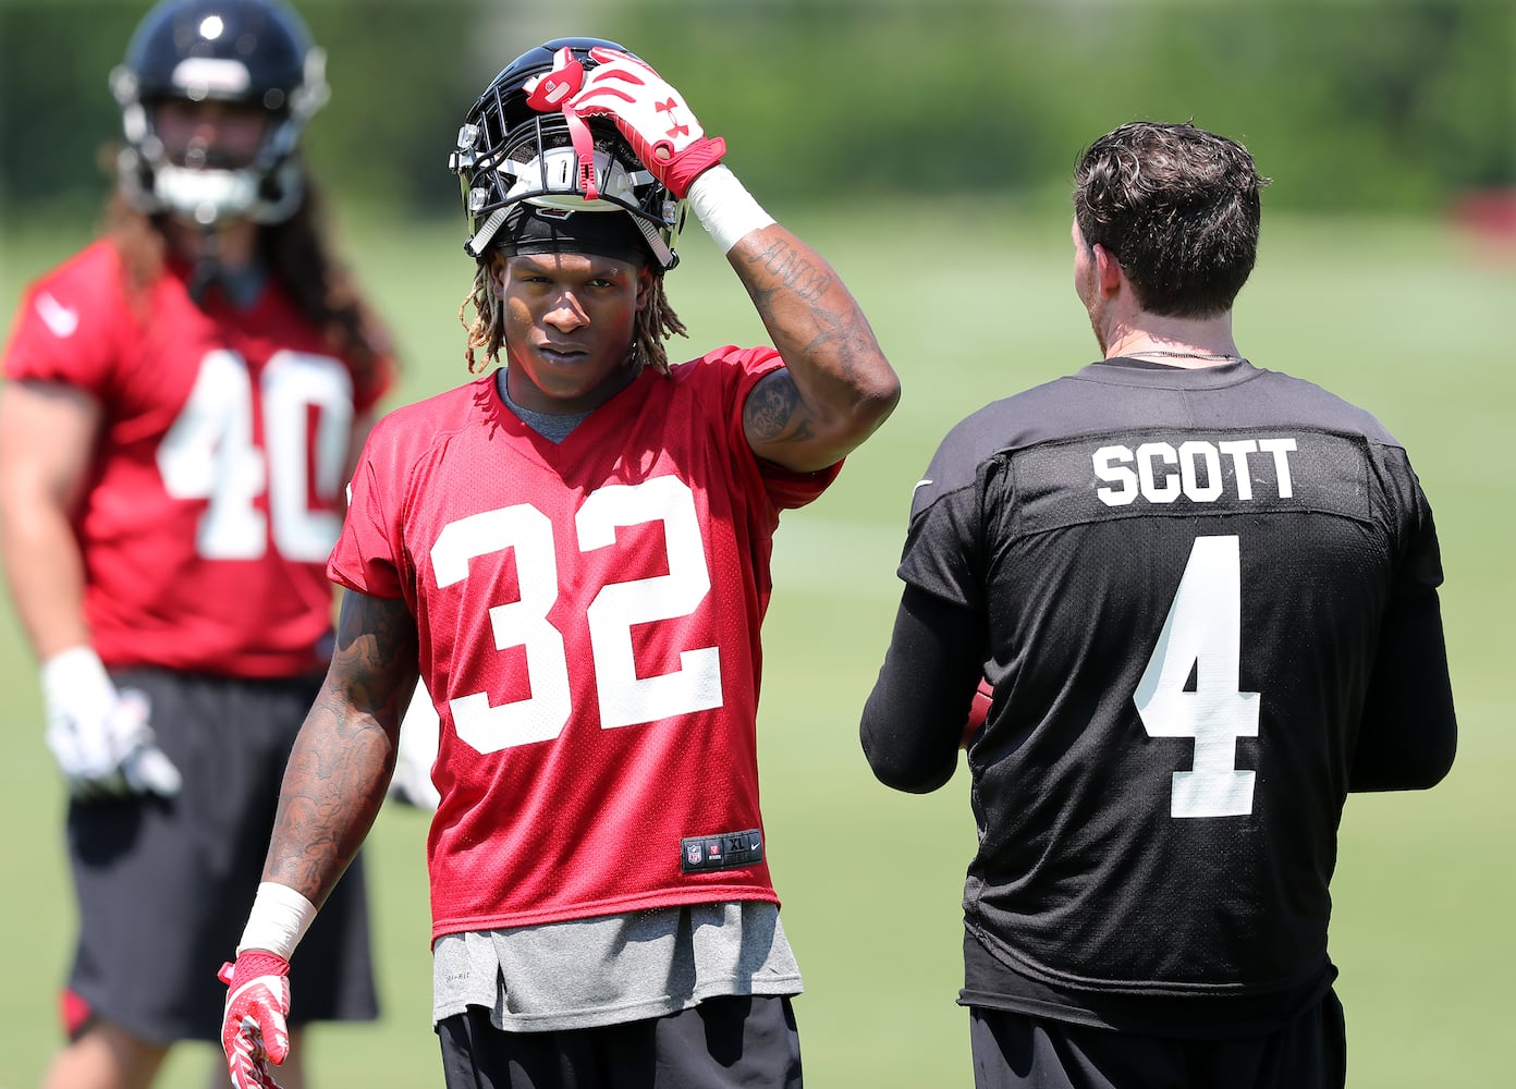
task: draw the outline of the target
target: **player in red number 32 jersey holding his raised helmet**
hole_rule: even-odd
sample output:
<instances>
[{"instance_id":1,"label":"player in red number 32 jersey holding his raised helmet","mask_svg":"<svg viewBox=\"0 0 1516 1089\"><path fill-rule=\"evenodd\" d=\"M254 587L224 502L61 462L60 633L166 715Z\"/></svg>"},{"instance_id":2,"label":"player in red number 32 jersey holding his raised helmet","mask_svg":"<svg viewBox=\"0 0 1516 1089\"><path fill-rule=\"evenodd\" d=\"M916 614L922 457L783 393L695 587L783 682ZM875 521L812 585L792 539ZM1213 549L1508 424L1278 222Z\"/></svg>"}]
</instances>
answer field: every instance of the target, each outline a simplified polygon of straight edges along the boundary
<instances>
[{"instance_id":1,"label":"player in red number 32 jersey holding his raised helmet","mask_svg":"<svg viewBox=\"0 0 1516 1089\"><path fill-rule=\"evenodd\" d=\"M337 657L230 978L238 1086L283 1054L287 959L385 796L417 675L447 1084L800 1084L758 804L769 555L899 381L723 152L597 39L525 53L468 114L468 359L505 366L382 420L353 476ZM669 366L685 202L775 347Z\"/></svg>"}]
</instances>

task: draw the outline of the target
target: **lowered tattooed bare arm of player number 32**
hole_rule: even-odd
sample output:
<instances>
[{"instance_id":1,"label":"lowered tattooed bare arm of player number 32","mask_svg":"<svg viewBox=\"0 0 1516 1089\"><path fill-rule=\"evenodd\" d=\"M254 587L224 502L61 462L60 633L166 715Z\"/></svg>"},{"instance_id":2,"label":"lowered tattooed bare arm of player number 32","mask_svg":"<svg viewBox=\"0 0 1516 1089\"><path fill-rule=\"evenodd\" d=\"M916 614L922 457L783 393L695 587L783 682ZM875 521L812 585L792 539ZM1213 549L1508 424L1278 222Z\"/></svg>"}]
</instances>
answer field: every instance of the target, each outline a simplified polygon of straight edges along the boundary
<instances>
[{"instance_id":1,"label":"lowered tattooed bare arm of player number 32","mask_svg":"<svg viewBox=\"0 0 1516 1089\"><path fill-rule=\"evenodd\" d=\"M264 881L317 907L337 886L384 802L415 676L406 604L346 592L332 666L285 767Z\"/></svg>"}]
</instances>

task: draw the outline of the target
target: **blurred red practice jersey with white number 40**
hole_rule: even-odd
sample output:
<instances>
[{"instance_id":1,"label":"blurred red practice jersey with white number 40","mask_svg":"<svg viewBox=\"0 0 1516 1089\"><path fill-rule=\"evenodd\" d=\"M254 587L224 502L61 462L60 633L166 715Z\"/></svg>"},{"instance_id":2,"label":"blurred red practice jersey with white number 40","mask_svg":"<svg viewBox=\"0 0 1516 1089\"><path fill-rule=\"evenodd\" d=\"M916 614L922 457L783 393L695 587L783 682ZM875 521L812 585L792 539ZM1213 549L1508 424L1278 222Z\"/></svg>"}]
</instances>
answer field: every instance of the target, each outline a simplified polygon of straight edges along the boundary
<instances>
[{"instance_id":1,"label":"blurred red practice jersey with white number 40","mask_svg":"<svg viewBox=\"0 0 1516 1089\"><path fill-rule=\"evenodd\" d=\"M356 387L276 284L202 309L186 276L133 302L97 241L27 290L5 355L8 379L102 405L76 522L94 648L117 667L320 670L352 423L384 379Z\"/></svg>"}]
</instances>

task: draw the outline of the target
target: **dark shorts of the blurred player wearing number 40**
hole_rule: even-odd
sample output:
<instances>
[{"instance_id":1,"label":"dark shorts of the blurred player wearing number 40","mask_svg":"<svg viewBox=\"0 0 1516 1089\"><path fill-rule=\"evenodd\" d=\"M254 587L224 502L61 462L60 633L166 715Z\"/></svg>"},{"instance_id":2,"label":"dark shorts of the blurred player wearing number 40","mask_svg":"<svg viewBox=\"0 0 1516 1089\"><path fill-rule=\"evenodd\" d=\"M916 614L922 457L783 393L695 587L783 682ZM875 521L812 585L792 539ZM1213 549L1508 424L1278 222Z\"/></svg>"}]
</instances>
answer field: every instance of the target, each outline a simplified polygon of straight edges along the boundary
<instances>
[{"instance_id":1,"label":"dark shorts of the blurred player wearing number 40","mask_svg":"<svg viewBox=\"0 0 1516 1089\"><path fill-rule=\"evenodd\" d=\"M147 695L183 789L68 807L79 946L65 1027L103 1018L155 1043L218 1040L215 974L247 924L285 761L321 678L121 670L115 681ZM291 1024L377 1016L361 857L296 949L290 990Z\"/></svg>"}]
</instances>

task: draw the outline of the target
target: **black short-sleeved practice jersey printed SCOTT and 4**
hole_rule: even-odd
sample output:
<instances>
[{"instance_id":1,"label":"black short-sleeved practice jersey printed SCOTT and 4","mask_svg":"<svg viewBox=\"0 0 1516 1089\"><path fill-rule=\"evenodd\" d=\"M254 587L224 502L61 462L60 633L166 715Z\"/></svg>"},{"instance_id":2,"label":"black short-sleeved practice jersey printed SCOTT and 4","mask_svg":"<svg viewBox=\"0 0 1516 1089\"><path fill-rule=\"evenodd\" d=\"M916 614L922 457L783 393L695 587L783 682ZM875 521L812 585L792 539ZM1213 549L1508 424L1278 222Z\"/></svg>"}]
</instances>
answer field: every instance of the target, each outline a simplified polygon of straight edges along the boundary
<instances>
[{"instance_id":1,"label":"black short-sleeved practice jersey printed SCOTT and 4","mask_svg":"<svg viewBox=\"0 0 1516 1089\"><path fill-rule=\"evenodd\" d=\"M899 573L987 632L966 1001L1246 1031L1330 986L1398 599L1433 599L1411 658L1446 686L1431 511L1375 419L1246 361L1093 364L946 437Z\"/></svg>"}]
</instances>

